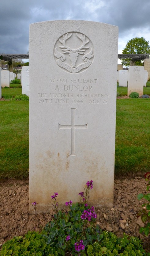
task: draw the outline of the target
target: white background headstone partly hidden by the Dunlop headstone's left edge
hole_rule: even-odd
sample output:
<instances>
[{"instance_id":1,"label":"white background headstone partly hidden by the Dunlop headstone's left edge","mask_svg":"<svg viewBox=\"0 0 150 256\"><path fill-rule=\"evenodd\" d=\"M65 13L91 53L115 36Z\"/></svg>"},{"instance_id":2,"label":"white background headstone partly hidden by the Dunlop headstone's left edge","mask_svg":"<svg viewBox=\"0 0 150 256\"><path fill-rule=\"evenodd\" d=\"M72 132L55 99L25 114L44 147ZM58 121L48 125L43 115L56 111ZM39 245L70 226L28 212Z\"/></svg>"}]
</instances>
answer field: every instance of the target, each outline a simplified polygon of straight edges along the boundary
<instances>
[{"instance_id":1,"label":"white background headstone partly hidden by the Dunlop headstone's left edge","mask_svg":"<svg viewBox=\"0 0 150 256\"><path fill-rule=\"evenodd\" d=\"M22 94L29 96L29 66L22 67Z\"/></svg>"}]
</instances>

